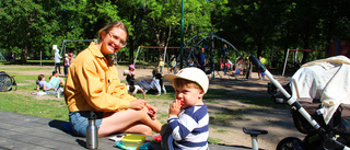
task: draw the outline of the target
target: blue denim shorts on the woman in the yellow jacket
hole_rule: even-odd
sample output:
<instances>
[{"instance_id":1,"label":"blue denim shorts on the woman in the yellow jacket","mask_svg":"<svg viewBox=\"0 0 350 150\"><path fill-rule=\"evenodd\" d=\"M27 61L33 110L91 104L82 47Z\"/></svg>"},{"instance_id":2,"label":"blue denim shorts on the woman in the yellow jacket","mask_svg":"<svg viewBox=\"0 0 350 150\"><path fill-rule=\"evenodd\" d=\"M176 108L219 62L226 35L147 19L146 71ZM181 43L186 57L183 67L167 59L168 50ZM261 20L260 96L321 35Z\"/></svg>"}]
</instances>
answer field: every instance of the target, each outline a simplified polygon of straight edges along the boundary
<instances>
[{"instance_id":1,"label":"blue denim shorts on the woman in the yellow jacket","mask_svg":"<svg viewBox=\"0 0 350 150\"><path fill-rule=\"evenodd\" d=\"M96 125L100 128L103 113L96 113ZM86 137L90 111L70 112L69 122L77 136Z\"/></svg>"}]
</instances>

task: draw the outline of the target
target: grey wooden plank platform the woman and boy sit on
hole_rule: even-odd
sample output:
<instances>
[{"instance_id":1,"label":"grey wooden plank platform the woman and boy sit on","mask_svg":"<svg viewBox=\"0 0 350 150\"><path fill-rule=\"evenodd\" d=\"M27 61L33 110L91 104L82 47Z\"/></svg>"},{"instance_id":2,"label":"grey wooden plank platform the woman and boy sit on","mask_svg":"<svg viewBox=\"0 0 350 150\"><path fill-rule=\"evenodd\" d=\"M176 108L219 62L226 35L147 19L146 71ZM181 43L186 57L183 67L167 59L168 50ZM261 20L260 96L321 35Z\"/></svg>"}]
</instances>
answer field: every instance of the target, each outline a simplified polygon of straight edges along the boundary
<instances>
[{"instance_id":1,"label":"grey wooden plank platform the woman and boy sit on","mask_svg":"<svg viewBox=\"0 0 350 150\"><path fill-rule=\"evenodd\" d=\"M12 112L0 111L0 149L11 150L82 150L85 138L70 135L63 124L67 122L49 119ZM110 137L110 136L109 136ZM98 149L110 150L119 148L109 137L98 138ZM150 140L148 137L147 140ZM249 140L249 138L247 138ZM154 150L160 150L159 143L151 142ZM240 146L209 145L210 150L246 150Z\"/></svg>"}]
</instances>

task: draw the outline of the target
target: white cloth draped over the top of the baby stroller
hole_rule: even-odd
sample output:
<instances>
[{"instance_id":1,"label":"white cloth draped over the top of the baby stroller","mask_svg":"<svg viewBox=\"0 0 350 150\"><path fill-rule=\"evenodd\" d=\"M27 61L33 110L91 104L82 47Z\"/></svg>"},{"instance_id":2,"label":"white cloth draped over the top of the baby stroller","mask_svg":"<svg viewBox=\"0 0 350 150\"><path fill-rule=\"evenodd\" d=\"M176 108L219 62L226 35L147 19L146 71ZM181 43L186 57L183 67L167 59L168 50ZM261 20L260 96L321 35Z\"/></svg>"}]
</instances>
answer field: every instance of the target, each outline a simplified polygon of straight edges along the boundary
<instances>
[{"instance_id":1,"label":"white cloth draped over the top of the baby stroller","mask_svg":"<svg viewBox=\"0 0 350 150\"><path fill-rule=\"evenodd\" d=\"M318 99L328 124L340 104L350 104L350 59L329 57L307 62L290 79L291 99Z\"/></svg>"}]
</instances>

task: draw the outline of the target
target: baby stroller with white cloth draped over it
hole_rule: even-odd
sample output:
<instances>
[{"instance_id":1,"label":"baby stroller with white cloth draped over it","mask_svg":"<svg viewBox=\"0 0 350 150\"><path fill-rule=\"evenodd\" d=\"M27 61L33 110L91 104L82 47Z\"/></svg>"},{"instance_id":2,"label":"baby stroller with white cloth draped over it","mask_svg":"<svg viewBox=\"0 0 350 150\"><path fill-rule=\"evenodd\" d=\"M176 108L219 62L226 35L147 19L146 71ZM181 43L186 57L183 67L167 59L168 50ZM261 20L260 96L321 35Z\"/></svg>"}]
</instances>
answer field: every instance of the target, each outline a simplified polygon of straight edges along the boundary
<instances>
[{"instance_id":1,"label":"baby stroller with white cloth draped over it","mask_svg":"<svg viewBox=\"0 0 350 150\"><path fill-rule=\"evenodd\" d=\"M277 150L349 150L350 59L337 56L305 64L284 86L258 59L250 60L270 79L272 100L290 105L296 129L306 135L302 140L282 139Z\"/></svg>"}]
</instances>

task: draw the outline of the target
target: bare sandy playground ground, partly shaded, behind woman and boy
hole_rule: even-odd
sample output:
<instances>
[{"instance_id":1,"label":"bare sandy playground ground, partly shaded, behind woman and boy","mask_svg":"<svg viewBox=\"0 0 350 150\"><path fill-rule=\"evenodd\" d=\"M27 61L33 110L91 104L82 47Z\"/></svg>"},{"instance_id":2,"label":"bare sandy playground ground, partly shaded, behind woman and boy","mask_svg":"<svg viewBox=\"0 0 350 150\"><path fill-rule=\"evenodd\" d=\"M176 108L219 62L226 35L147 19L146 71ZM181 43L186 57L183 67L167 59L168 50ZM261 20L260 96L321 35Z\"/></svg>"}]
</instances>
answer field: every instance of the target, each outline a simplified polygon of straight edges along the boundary
<instances>
[{"instance_id":1,"label":"bare sandy playground ground, partly shaded, behind woman and boy","mask_svg":"<svg viewBox=\"0 0 350 150\"><path fill-rule=\"evenodd\" d=\"M51 68L51 67L47 67ZM128 69L125 66L117 66L119 71L119 79L124 80L122 71ZM1 69L1 66L0 66ZM62 71L62 70L61 70ZM152 69L137 69L136 79L137 80L150 80ZM40 71L8 71L19 72L24 74L50 74L50 70L40 70ZM221 72L222 74L222 72ZM281 83L285 84L289 82L290 77L281 77L275 73L275 78ZM235 80L228 79L223 77L222 79L210 80L210 89L224 90L229 93L230 97L222 97L220 100L209 100L207 102L208 112L210 116L218 116L218 114L231 115L237 117L229 117L226 124L214 124L210 125L210 137L218 139L221 143L242 146L242 147L252 147L250 136L245 135L242 131L243 127L246 128L257 128L268 130L267 135L261 135L258 137L258 143L260 149L273 150L276 149L277 143L285 137L303 137L300 134L292 122L292 117L288 107L285 108L268 108L258 105L252 105L248 103L242 103L236 101L236 97L240 96L267 96L267 83L268 80L259 80L257 73L253 73L250 80ZM171 86L171 82L165 81L165 85ZM36 96L36 99L44 99L44 96ZM46 99L46 97L45 97ZM63 97L59 99L63 101ZM161 120L166 119L166 114L168 109L168 104L173 100L148 100L151 104L155 105L159 108L159 118ZM257 99L256 101L261 101ZM229 112L229 113L228 113ZM235 115L238 114L238 115Z\"/></svg>"}]
</instances>

